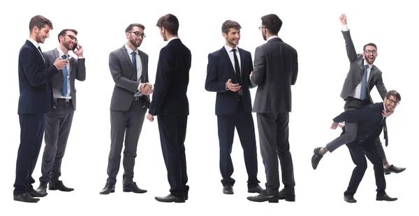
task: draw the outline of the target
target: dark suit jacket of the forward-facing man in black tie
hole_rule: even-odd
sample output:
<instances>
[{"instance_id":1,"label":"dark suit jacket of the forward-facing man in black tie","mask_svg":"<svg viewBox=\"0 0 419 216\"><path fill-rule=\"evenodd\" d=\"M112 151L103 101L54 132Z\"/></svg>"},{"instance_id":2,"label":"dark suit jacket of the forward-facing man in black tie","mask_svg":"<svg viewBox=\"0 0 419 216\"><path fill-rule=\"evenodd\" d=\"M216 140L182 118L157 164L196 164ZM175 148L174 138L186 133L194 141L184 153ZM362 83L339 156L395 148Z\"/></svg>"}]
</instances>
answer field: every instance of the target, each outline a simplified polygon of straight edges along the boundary
<instances>
[{"instance_id":1,"label":"dark suit jacket of the forward-facing man in black tie","mask_svg":"<svg viewBox=\"0 0 419 216\"><path fill-rule=\"evenodd\" d=\"M242 77L242 103L244 111L251 112L251 96L249 88L253 88L249 80L249 74L253 70L251 54L244 49L239 49L240 71ZM234 114L237 109L238 91L226 90L226 82L231 79L232 83L237 84L237 77L226 48L208 55L207 79L205 89L216 92L215 114L227 115Z\"/></svg>"}]
</instances>

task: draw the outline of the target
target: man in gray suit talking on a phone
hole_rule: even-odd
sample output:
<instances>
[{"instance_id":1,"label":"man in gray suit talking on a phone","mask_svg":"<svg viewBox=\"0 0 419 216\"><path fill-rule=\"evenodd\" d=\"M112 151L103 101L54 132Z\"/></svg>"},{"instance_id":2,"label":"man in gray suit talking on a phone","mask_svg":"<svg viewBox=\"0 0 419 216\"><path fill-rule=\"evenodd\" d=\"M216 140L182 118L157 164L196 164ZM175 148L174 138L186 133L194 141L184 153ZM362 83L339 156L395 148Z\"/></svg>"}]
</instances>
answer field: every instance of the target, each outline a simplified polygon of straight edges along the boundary
<instances>
[{"instance_id":1,"label":"man in gray suit talking on a phone","mask_svg":"<svg viewBox=\"0 0 419 216\"><path fill-rule=\"evenodd\" d=\"M78 31L74 29L64 29L58 34L59 46L44 53L47 66L51 65L54 59L60 57L70 59L70 61L59 75L51 79L54 109L47 114L42 176L39 178L40 185L36 190L43 194L46 193L48 183L49 190L64 192L74 190L66 187L58 178L61 176L61 161L66 151L68 134L70 134L75 111L75 79L79 81L86 79L83 47L78 44L77 34ZM78 56L78 59L72 58L68 54L70 50Z\"/></svg>"}]
</instances>

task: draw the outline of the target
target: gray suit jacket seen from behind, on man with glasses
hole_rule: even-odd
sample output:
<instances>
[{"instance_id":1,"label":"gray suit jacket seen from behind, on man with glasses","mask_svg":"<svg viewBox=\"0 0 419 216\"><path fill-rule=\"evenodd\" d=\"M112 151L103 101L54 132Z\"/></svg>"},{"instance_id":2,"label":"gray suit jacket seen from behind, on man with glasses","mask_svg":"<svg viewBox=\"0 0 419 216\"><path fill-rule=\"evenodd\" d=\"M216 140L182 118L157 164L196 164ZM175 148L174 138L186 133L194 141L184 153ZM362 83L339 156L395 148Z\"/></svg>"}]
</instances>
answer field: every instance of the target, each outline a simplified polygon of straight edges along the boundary
<instances>
[{"instance_id":1,"label":"gray suit jacket seen from behind, on man with glasses","mask_svg":"<svg viewBox=\"0 0 419 216\"><path fill-rule=\"evenodd\" d=\"M257 47L251 83L258 90L252 111L291 111L291 85L297 81L297 74L297 51L280 38L272 38Z\"/></svg>"}]
</instances>

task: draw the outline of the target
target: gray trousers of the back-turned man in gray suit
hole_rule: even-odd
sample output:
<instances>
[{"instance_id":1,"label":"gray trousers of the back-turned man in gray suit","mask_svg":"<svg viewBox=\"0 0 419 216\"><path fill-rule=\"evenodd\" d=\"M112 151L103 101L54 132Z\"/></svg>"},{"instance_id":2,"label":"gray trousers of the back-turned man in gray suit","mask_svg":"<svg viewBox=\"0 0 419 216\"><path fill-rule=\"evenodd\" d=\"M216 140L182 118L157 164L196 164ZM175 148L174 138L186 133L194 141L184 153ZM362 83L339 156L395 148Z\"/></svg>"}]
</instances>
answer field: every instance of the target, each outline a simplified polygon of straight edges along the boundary
<instances>
[{"instance_id":1,"label":"gray trousers of the back-turned man in gray suit","mask_svg":"<svg viewBox=\"0 0 419 216\"><path fill-rule=\"evenodd\" d=\"M286 194L294 195L294 168L288 141L289 112L258 113L260 153L266 173L268 194L279 192L279 163ZM279 159L279 163L278 163Z\"/></svg>"}]
</instances>

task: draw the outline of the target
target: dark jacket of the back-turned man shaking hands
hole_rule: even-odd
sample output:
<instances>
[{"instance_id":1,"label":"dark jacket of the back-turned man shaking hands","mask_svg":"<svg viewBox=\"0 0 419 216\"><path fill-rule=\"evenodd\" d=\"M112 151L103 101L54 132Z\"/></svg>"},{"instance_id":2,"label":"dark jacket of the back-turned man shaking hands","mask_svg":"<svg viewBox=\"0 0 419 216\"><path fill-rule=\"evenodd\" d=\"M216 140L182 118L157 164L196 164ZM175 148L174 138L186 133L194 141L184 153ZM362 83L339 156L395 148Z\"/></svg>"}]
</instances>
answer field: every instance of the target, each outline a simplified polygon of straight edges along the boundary
<instances>
[{"instance_id":1,"label":"dark jacket of the back-turned man shaking hands","mask_svg":"<svg viewBox=\"0 0 419 216\"><path fill-rule=\"evenodd\" d=\"M180 39L170 40L168 45L160 50L149 114L189 115L186 92L191 58L191 51Z\"/></svg>"}]
</instances>

